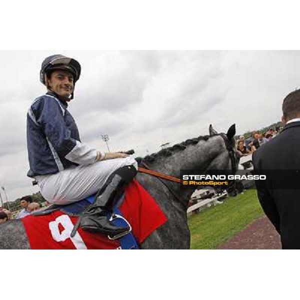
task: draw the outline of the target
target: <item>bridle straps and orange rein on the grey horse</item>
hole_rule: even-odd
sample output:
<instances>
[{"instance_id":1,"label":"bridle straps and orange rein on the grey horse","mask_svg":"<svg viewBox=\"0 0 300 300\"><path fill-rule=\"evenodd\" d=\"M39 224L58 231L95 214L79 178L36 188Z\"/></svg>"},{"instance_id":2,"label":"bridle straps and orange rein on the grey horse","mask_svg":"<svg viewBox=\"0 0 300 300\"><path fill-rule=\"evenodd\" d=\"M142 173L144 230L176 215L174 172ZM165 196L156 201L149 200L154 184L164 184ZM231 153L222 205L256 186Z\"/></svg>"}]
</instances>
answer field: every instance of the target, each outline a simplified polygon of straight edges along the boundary
<instances>
[{"instance_id":1,"label":"bridle straps and orange rein on the grey horse","mask_svg":"<svg viewBox=\"0 0 300 300\"><path fill-rule=\"evenodd\" d=\"M232 175L234 175L237 168L236 168L236 157L235 157L235 154L234 154L233 147L231 146L230 142L228 141L228 138L227 138L226 134L219 133L219 134L215 134L215 135L220 135L223 138L224 142L225 142L225 146L226 146L226 149L228 151L229 159L230 159L230 162L231 162L231 172L232 172ZM213 136L215 136L215 135L213 135ZM183 203L183 199L180 199L180 197L173 191L173 189L169 186L169 184L166 183L164 180L162 180L162 179L165 179L165 180L168 180L168 181L181 183L182 180L180 178L169 176L169 175L166 175L164 173L151 170L150 167L144 162L143 159L141 160L141 162L139 164L138 172L149 174L149 175L152 175L152 176L156 177L164 186L167 187L167 189L172 193L172 195L179 202ZM229 184L228 184L228 188L227 188L228 191L232 190L234 188L234 185L235 185L235 179L229 180Z\"/></svg>"}]
</instances>

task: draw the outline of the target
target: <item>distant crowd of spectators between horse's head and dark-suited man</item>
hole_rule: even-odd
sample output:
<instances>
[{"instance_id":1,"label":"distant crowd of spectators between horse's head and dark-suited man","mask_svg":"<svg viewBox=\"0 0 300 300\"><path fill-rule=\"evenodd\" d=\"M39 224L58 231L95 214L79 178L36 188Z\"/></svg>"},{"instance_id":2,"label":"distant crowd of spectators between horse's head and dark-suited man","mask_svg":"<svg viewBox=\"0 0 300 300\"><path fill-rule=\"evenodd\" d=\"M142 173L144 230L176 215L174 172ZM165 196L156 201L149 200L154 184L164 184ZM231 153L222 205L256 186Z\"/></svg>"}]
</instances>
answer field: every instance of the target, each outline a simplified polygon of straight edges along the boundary
<instances>
[{"instance_id":1,"label":"distant crowd of spectators between horse's head and dark-suited man","mask_svg":"<svg viewBox=\"0 0 300 300\"><path fill-rule=\"evenodd\" d=\"M243 135L240 135L236 142L237 152L240 156L252 154L261 145L274 138L281 130L282 127L276 126L275 129L269 128L264 133L252 131L251 136L247 139Z\"/></svg>"}]
</instances>

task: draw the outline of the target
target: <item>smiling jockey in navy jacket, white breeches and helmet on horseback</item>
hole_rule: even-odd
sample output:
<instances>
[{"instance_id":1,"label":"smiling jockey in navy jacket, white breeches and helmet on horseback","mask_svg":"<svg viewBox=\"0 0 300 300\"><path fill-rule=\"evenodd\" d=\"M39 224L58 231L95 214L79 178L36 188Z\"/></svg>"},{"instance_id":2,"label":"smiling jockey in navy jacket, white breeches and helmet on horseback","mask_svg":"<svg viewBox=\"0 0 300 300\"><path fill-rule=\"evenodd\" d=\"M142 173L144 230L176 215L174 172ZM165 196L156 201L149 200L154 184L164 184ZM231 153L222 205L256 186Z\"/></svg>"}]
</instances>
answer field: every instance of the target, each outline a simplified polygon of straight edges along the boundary
<instances>
[{"instance_id":1,"label":"smiling jockey in navy jacket, white breeches and helmet on horseback","mask_svg":"<svg viewBox=\"0 0 300 300\"><path fill-rule=\"evenodd\" d=\"M97 193L80 225L113 236L128 230L113 225L108 213L135 176L137 163L125 153L102 153L80 141L67 110L80 71L79 62L70 57L57 54L43 60L40 81L47 92L33 101L27 113L27 175L36 179L50 203L68 204Z\"/></svg>"}]
</instances>

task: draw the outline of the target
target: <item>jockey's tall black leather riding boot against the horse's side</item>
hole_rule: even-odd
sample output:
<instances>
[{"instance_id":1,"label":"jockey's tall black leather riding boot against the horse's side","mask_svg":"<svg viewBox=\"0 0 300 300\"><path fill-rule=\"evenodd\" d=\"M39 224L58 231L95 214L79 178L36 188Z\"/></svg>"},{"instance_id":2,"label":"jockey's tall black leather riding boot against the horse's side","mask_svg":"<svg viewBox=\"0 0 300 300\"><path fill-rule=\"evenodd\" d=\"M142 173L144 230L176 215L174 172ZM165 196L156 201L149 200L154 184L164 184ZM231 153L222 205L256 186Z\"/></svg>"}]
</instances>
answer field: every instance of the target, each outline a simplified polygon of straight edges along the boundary
<instances>
[{"instance_id":1,"label":"jockey's tall black leather riding boot against the horse's side","mask_svg":"<svg viewBox=\"0 0 300 300\"><path fill-rule=\"evenodd\" d=\"M80 217L83 230L114 236L129 229L113 225L108 219L108 212L112 212L114 204L135 174L135 167L126 165L109 176L104 187L97 193L95 201Z\"/></svg>"}]
</instances>

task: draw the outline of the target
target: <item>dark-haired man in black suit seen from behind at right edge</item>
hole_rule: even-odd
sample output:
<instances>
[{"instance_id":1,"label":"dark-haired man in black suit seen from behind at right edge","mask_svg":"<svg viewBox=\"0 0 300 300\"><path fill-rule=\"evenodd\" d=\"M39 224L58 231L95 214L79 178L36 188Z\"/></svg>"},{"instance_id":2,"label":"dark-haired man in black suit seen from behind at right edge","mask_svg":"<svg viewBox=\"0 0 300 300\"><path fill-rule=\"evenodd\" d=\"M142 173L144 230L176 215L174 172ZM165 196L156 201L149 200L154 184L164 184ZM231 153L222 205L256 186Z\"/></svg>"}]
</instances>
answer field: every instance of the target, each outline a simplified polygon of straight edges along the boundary
<instances>
[{"instance_id":1,"label":"dark-haired man in black suit seen from behind at right edge","mask_svg":"<svg viewBox=\"0 0 300 300\"><path fill-rule=\"evenodd\" d=\"M300 89L289 93L282 103L280 134L253 153L254 171L266 172L267 180L256 180L261 207L281 237L283 249L300 249L300 180L286 188L286 172L300 170ZM277 171L279 170L279 171ZM288 170L288 171L287 171ZM282 188L282 189L278 189ZM297 188L297 189L296 189Z\"/></svg>"}]
</instances>

